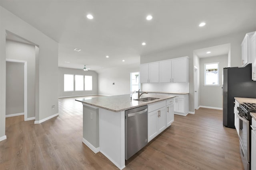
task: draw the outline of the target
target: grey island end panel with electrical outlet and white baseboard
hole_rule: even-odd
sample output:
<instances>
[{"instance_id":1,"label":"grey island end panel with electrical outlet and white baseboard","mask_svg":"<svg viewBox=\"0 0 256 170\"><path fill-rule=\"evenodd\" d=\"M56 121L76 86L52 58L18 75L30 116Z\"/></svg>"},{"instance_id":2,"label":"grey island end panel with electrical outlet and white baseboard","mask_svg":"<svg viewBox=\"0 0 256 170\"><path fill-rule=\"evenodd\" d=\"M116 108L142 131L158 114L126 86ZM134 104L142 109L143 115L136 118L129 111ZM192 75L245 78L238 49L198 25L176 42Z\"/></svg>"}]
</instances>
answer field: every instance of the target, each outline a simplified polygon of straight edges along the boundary
<instances>
[{"instance_id":1,"label":"grey island end panel with electrical outlet and white baseboard","mask_svg":"<svg viewBox=\"0 0 256 170\"><path fill-rule=\"evenodd\" d=\"M94 153L100 151L99 142L99 109L83 105L83 143Z\"/></svg>"}]
</instances>

